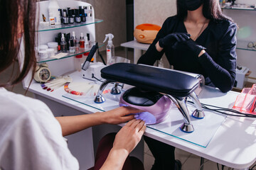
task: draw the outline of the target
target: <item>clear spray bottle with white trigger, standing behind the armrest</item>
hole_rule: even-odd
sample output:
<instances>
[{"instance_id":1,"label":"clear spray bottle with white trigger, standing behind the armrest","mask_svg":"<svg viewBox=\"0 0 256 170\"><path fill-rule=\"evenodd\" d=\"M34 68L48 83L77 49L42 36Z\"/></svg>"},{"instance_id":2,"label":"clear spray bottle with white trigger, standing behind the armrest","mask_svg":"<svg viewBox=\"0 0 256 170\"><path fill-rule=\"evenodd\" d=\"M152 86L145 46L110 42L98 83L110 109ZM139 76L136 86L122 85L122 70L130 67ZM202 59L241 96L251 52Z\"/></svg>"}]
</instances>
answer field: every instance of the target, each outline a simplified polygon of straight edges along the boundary
<instances>
[{"instance_id":1,"label":"clear spray bottle with white trigger, standing behind the armrest","mask_svg":"<svg viewBox=\"0 0 256 170\"><path fill-rule=\"evenodd\" d=\"M114 45L112 42L114 35L112 35L111 33L106 34L106 38L103 42L105 42L107 38L109 39L107 41L107 64L110 65L110 64L114 64Z\"/></svg>"}]
</instances>

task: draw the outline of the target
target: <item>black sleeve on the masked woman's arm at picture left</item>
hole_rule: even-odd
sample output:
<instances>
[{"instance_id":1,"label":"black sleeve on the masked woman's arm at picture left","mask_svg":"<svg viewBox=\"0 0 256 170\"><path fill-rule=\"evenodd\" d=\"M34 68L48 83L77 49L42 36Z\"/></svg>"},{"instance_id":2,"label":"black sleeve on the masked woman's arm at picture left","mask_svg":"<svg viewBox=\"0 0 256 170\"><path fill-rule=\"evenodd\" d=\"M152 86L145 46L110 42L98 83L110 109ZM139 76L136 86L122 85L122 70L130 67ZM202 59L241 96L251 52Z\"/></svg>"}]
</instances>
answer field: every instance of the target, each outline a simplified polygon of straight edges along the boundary
<instances>
[{"instance_id":1,"label":"black sleeve on the masked woman's arm at picture left","mask_svg":"<svg viewBox=\"0 0 256 170\"><path fill-rule=\"evenodd\" d=\"M158 52L156 50L156 43L159 41L160 38L164 38L166 36L167 25L168 25L167 23L169 23L169 18L167 18L166 21L164 21L164 24L161 27L161 30L159 30L159 33L157 33L156 35L156 38L149 46L149 49L146 50L145 54L139 58L137 64L154 65L156 60L160 60L161 57L164 55L164 49L161 52Z\"/></svg>"}]
</instances>

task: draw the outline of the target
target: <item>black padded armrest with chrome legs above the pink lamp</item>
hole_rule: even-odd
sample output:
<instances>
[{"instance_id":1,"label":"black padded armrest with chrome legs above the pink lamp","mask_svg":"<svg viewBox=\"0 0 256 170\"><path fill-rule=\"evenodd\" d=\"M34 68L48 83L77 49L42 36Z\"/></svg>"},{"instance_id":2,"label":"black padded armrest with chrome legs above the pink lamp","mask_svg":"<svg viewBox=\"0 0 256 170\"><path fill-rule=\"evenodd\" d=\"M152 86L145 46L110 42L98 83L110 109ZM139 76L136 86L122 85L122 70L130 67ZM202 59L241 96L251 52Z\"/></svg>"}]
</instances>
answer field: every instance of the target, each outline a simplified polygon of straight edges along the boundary
<instances>
[{"instance_id":1,"label":"black padded armrest with chrome legs above the pink lamp","mask_svg":"<svg viewBox=\"0 0 256 170\"><path fill-rule=\"evenodd\" d=\"M136 86L144 91L155 91L171 99L183 115L184 123L180 126L183 132L193 132L191 118L186 106L187 98L192 98L196 106L196 111L192 113L195 118L203 118L204 113L201 103L194 92L199 81L196 77L176 72L171 69L161 69L142 64L116 63L101 70L101 77L106 79L100 86L95 103L103 103L105 98L102 91L109 83L117 82Z\"/></svg>"}]
</instances>

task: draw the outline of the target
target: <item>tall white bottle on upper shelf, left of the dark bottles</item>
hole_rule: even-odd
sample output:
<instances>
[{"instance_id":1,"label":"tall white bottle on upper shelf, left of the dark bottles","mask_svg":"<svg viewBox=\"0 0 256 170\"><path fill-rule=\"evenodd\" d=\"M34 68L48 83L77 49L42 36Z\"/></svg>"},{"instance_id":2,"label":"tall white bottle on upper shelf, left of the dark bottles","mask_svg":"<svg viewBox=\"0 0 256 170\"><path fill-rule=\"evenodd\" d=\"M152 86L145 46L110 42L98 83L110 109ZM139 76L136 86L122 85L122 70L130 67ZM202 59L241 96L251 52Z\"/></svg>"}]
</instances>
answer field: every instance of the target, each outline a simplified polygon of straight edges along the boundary
<instances>
[{"instance_id":1,"label":"tall white bottle on upper shelf, left of the dark bottles","mask_svg":"<svg viewBox=\"0 0 256 170\"><path fill-rule=\"evenodd\" d=\"M60 6L58 5L57 0L50 0L48 5L49 18L54 18L55 25L60 25Z\"/></svg>"}]
</instances>

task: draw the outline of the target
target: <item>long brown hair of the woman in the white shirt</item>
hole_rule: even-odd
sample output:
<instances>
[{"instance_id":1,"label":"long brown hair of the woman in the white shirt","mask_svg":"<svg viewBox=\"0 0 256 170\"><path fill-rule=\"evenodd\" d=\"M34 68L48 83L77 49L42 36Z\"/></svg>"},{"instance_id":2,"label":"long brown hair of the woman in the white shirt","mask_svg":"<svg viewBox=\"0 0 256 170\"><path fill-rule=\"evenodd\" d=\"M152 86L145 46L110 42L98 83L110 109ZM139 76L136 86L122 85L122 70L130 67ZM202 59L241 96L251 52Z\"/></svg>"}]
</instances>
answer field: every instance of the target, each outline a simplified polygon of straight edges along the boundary
<instances>
[{"instance_id":1,"label":"long brown hair of the woman in the white shirt","mask_svg":"<svg viewBox=\"0 0 256 170\"><path fill-rule=\"evenodd\" d=\"M21 29L24 42L21 72L8 82L0 84L0 87L18 84L26 77L31 67L34 72L36 67L35 21L36 0L0 0L0 73L17 60L21 44L18 42L18 33Z\"/></svg>"}]
</instances>

